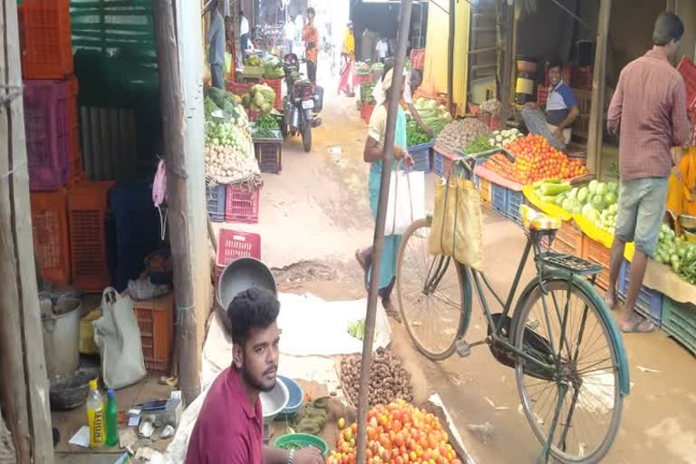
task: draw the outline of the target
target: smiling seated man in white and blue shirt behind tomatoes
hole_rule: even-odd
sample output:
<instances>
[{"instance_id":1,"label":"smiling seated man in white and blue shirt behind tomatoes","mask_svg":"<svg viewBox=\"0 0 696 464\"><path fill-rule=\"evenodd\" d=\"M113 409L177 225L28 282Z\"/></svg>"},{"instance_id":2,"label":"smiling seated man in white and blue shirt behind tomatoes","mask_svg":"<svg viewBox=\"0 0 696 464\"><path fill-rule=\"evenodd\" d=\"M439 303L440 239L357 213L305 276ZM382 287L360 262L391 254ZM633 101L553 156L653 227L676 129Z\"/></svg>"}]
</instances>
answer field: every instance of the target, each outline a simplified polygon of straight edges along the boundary
<instances>
[{"instance_id":1,"label":"smiling seated man in white and blue shirt behind tomatoes","mask_svg":"<svg viewBox=\"0 0 696 464\"><path fill-rule=\"evenodd\" d=\"M556 150L564 150L570 143L572 127L580 110L573 91L561 80L561 63L551 63L548 79L551 86L546 98L546 112L542 115L536 110L536 104L529 104L522 111L522 118L529 132L543 135Z\"/></svg>"}]
</instances>

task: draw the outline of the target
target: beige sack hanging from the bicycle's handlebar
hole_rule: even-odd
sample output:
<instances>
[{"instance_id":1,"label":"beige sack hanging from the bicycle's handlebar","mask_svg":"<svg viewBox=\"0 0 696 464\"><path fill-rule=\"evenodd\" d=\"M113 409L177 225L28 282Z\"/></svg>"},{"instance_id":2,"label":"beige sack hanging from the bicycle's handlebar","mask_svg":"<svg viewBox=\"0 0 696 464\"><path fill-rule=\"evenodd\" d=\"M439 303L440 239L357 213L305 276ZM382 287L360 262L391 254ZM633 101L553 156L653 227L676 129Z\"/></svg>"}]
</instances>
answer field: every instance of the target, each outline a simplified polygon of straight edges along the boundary
<instances>
[{"instance_id":1,"label":"beige sack hanging from the bicycle's handlebar","mask_svg":"<svg viewBox=\"0 0 696 464\"><path fill-rule=\"evenodd\" d=\"M468 179L450 174L435 185L435 211L428 248L431 255L451 256L483 269L481 194Z\"/></svg>"}]
</instances>

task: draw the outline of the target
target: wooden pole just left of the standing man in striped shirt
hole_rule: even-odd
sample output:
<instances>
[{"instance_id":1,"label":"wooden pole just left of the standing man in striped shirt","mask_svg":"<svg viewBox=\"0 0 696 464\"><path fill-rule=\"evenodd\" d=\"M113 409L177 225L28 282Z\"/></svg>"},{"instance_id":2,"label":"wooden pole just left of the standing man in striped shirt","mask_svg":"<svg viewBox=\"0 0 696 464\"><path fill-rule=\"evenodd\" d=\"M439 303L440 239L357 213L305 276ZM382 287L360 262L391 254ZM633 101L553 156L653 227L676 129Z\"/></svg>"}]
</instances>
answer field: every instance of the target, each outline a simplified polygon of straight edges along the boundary
<instances>
[{"instance_id":1,"label":"wooden pole just left of the standing man in striped shirt","mask_svg":"<svg viewBox=\"0 0 696 464\"><path fill-rule=\"evenodd\" d=\"M609 37L609 19L612 0L600 0L597 21L597 45L594 53L592 76L592 105L590 106L587 135L587 170L599 175L602 170L602 142L604 138L604 81L606 76L606 43Z\"/></svg>"}]
</instances>

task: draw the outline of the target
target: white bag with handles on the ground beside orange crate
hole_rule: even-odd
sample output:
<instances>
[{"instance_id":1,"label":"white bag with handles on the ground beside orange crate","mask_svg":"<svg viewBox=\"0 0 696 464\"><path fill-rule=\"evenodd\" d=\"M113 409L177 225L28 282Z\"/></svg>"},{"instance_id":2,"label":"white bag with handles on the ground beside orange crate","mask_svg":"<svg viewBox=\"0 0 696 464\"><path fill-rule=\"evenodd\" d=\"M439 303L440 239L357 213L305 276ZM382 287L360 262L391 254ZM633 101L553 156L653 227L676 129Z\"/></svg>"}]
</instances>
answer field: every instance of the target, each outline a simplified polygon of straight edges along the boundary
<instances>
[{"instance_id":1,"label":"white bag with handles on the ground beside orange crate","mask_svg":"<svg viewBox=\"0 0 696 464\"><path fill-rule=\"evenodd\" d=\"M107 388L118 390L140 382L148 372L131 298L119 295L112 287L105 288L102 317L92 325L94 342L102 353L102 377Z\"/></svg>"}]
</instances>

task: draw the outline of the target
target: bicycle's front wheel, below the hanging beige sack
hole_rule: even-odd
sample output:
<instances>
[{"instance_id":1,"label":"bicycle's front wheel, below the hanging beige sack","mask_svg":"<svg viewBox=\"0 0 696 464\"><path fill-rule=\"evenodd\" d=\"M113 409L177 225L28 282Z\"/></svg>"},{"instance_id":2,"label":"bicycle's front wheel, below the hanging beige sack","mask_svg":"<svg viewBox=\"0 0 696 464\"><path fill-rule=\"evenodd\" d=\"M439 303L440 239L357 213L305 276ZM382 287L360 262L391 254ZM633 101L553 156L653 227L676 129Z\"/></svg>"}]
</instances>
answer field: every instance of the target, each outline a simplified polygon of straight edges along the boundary
<instances>
[{"instance_id":1,"label":"bicycle's front wheel, below the hanging beige sack","mask_svg":"<svg viewBox=\"0 0 696 464\"><path fill-rule=\"evenodd\" d=\"M471 286L454 259L430 255L431 220L415 221L401 238L396 293L411 341L420 353L441 361L469 325Z\"/></svg>"}]
</instances>

